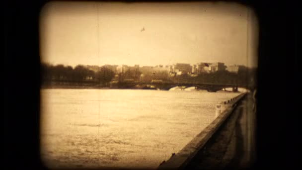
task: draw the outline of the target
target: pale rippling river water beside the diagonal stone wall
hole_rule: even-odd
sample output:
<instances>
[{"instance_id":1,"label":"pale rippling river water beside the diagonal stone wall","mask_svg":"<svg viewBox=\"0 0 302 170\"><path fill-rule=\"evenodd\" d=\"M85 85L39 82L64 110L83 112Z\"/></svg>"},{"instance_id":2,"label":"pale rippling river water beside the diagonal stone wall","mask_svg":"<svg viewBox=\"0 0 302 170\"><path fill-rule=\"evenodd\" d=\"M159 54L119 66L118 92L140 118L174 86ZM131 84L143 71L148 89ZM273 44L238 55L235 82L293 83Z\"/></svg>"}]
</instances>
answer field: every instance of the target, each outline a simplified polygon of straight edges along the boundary
<instances>
[{"instance_id":1,"label":"pale rippling river water beside the diagonal stone wall","mask_svg":"<svg viewBox=\"0 0 302 170\"><path fill-rule=\"evenodd\" d=\"M41 89L41 159L49 168L150 168L179 152L232 92Z\"/></svg>"}]
</instances>

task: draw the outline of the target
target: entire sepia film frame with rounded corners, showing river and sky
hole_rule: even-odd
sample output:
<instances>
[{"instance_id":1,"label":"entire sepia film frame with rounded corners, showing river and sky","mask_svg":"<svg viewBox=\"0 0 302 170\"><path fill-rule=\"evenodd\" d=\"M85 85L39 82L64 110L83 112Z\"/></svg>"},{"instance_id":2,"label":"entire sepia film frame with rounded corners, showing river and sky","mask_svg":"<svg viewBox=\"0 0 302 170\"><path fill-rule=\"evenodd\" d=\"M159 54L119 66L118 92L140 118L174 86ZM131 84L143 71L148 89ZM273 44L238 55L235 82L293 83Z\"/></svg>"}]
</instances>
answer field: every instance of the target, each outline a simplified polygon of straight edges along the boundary
<instances>
[{"instance_id":1,"label":"entire sepia film frame with rounded corners, showing river and sky","mask_svg":"<svg viewBox=\"0 0 302 170\"><path fill-rule=\"evenodd\" d=\"M223 1L40 11L48 169L242 169L256 158L258 20Z\"/></svg>"}]
</instances>

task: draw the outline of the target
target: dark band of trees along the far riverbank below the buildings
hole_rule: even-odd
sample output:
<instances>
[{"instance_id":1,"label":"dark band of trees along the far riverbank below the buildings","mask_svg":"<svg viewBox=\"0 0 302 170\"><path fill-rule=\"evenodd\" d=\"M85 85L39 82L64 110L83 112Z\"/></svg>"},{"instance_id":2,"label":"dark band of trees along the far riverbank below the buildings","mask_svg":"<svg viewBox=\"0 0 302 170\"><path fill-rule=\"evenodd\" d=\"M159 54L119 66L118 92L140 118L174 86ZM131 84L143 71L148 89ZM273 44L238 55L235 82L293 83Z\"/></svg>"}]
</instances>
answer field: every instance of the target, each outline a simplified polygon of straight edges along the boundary
<instances>
[{"instance_id":1,"label":"dark band of trees along the far riverbank below the buildings","mask_svg":"<svg viewBox=\"0 0 302 170\"><path fill-rule=\"evenodd\" d=\"M71 66L41 64L42 81L68 81L68 82L94 82L108 85L115 78L115 72L106 66L101 66L95 72L85 68L83 65ZM247 68L239 70L237 73L228 71L217 71L213 73L201 73L197 76L180 75L171 76L169 72L145 72L139 69L127 70L117 75L118 82L132 80L135 82L150 83L151 80L162 80L169 83L213 83L213 84L237 84L254 87L256 82L257 69Z\"/></svg>"}]
</instances>

